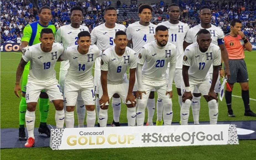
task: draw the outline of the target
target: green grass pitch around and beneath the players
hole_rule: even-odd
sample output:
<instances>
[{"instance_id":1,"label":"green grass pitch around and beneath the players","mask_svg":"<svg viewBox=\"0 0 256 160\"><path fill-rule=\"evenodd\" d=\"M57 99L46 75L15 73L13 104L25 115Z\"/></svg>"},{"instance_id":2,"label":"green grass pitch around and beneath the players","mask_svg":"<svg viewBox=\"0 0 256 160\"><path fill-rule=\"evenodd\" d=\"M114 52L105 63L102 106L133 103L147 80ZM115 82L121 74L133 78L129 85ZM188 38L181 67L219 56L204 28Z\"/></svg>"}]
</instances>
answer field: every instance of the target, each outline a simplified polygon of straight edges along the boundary
<instances>
[{"instance_id":1,"label":"green grass pitch around and beneath the players","mask_svg":"<svg viewBox=\"0 0 256 160\"><path fill-rule=\"evenodd\" d=\"M255 54L245 52L245 62L249 73L250 106L256 112L256 73ZM1 52L1 128L19 127L19 103L20 98L14 95L15 71L21 58L19 52ZM55 66L57 78L59 77L58 62ZM241 96L239 84L235 84L233 95ZM155 96L157 97L157 96ZM157 98L156 98L157 100ZM111 103L110 103L111 104ZM227 116L225 100L219 101L218 121L239 121L256 120L256 118L245 117L242 98L232 97L233 111L235 118ZM177 93L174 88L173 96L173 122L180 120L180 107L178 105ZM48 124L55 125L54 106L51 104ZM75 114L76 115L76 114ZM108 123L113 120L113 110L111 106L108 110ZM145 122L147 121L147 115ZM153 122L156 121L156 112ZM189 121L193 121L190 110ZM201 99L200 121L209 121L208 105ZM122 104L120 123L126 123L126 107ZM86 124L86 122L85 122ZM75 116L75 125L77 117ZM39 126L39 110L36 109L35 127ZM114 128L113 128L114 129ZM17 135L18 137L18 135ZM8 137L4 137L8 138ZM51 148L15 148L1 149L1 159L255 159L256 141L241 140L239 145L215 145L215 146L182 146L182 147L147 147L147 148L116 148L116 149L88 149L88 150L59 150L53 151Z\"/></svg>"}]
</instances>

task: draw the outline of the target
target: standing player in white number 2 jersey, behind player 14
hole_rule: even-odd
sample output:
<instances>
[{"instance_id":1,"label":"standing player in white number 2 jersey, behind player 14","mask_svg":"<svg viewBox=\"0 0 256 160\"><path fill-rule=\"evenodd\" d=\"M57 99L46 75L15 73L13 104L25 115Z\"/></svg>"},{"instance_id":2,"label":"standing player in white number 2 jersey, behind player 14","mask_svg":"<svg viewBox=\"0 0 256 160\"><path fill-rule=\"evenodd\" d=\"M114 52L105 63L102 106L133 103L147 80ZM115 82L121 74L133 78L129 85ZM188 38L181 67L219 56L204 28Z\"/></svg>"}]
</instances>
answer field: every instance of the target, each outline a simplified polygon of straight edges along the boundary
<instances>
[{"instance_id":1,"label":"standing player in white number 2 jersey, behind player 14","mask_svg":"<svg viewBox=\"0 0 256 160\"><path fill-rule=\"evenodd\" d=\"M55 41L63 44L64 49L70 46L78 45L77 34L81 31L89 31L87 26L80 25L83 19L83 9L80 6L75 6L70 10L70 25L61 26L55 36ZM59 84L64 92L65 76L69 68L69 61L62 61L60 72L59 72ZM64 94L65 97L65 94ZM77 117L78 117L78 127L83 127L85 118L85 105L81 97L80 92L77 97ZM64 104L65 105L65 104Z\"/></svg>"}]
</instances>

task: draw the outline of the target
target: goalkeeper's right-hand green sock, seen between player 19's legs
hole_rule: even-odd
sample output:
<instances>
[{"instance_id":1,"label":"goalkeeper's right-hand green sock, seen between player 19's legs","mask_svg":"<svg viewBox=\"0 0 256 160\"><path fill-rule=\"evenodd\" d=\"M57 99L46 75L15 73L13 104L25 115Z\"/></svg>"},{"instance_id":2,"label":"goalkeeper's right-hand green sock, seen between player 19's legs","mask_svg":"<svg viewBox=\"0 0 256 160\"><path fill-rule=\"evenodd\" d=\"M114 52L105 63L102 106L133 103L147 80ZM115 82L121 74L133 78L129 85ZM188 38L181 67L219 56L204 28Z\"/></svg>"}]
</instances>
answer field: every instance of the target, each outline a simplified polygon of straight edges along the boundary
<instances>
[{"instance_id":1,"label":"goalkeeper's right-hand green sock, seen between player 19's legs","mask_svg":"<svg viewBox=\"0 0 256 160\"><path fill-rule=\"evenodd\" d=\"M49 112L49 103L48 98L39 98L39 110L40 110L40 124L46 124L48 112Z\"/></svg>"}]
</instances>

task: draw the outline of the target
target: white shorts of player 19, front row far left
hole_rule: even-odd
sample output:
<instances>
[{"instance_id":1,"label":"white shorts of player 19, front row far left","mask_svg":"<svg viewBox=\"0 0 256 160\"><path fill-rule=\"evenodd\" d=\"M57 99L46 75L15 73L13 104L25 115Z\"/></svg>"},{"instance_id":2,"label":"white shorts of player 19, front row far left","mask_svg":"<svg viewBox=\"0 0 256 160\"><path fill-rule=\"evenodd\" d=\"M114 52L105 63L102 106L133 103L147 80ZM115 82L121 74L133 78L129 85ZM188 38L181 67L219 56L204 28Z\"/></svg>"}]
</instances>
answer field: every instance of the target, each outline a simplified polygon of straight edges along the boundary
<instances>
[{"instance_id":1,"label":"white shorts of player 19, front row far left","mask_svg":"<svg viewBox=\"0 0 256 160\"><path fill-rule=\"evenodd\" d=\"M47 93L50 101L63 100L61 86L59 85L57 79L40 83L28 80L26 90L26 102L37 102L41 90L44 90Z\"/></svg>"}]
</instances>

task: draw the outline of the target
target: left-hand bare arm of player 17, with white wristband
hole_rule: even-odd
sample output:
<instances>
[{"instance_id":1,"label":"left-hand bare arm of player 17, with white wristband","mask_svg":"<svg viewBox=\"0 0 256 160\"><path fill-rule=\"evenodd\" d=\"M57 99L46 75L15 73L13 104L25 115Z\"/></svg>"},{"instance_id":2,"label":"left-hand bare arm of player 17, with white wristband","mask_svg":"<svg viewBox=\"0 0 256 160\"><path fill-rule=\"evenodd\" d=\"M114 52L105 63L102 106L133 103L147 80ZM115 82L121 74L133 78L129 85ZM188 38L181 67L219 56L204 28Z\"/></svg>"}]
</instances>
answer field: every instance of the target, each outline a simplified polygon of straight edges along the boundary
<instances>
[{"instance_id":1,"label":"left-hand bare arm of player 17, with white wristband","mask_svg":"<svg viewBox=\"0 0 256 160\"><path fill-rule=\"evenodd\" d=\"M193 98L191 91L189 90L189 66L182 66L182 76L186 87L186 92L182 96L182 102L185 102L187 99L192 100Z\"/></svg>"}]
</instances>

